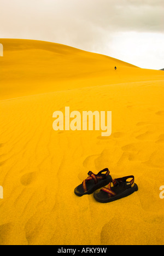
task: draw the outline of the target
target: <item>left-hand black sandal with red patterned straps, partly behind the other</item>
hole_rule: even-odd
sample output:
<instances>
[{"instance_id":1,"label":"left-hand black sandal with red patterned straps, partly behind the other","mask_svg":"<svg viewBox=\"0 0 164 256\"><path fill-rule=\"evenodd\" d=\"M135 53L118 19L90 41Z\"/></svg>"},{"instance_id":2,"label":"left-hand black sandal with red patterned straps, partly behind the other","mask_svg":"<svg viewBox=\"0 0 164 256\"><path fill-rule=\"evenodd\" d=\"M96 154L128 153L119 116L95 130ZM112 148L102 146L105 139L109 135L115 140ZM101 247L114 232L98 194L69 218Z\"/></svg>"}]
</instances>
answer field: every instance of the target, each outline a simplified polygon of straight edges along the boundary
<instances>
[{"instance_id":1,"label":"left-hand black sandal with red patterned straps, partly behind the other","mask_svg":"<svg viewBox=\"0 0 164 256\"><path fill-rule=\"evenodd\" d=\"M94 174L90 171L88 173L89 177L87 177L82 184L75 188L74 193L78 196L92 194L95 190L106 186L112 181L112 177L109 175L109 173L108 168L98 172L98 174Z\"/></svg>"}]
</instances>

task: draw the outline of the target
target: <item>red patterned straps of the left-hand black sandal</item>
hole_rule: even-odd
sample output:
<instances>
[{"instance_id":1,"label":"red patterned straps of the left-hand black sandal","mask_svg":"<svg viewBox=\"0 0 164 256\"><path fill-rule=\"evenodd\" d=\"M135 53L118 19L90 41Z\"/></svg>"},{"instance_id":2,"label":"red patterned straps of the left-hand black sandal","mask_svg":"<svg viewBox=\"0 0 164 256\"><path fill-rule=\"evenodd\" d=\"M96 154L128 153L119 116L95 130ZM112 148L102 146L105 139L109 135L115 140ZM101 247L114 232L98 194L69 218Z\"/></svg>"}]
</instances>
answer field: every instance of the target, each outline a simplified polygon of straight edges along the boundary
<instances>
[{"instance_id":1,"label":"red patterned straps of the left-hand black sandal","mask_svg":"<svg viewBox=\"0 0 164 256\"><path fill-rule=\"evenodd\" d=\"M106 173L103 173L106 172ZM87 177L84 181L83 181L83 190L84 192L87 191L87 187L86 187L86 182L91 181L91 179L93 179L95 181L95 184L98 183L98 180L100 179L106 179L108 174L109 174L109 170L108 168L98 172L98 174L94 174L93 172L89 171L89 173L87 173L89 175L89 177Z\"/></svg>"}]
</instances>

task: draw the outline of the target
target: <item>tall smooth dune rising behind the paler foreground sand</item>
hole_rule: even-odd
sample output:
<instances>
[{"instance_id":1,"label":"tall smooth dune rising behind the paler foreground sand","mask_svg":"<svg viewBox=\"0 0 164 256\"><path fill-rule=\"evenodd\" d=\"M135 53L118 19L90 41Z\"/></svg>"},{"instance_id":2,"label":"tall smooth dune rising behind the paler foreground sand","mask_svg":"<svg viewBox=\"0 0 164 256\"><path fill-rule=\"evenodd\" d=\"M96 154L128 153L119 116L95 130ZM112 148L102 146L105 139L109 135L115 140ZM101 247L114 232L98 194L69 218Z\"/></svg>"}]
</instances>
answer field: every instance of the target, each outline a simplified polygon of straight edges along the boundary
<instances>
[{"instance_id":1,"label":"tall smooth dune rising behind the paler foreground sand","mask_svg":"<svg viewBox=\"0 0 164 256\"><path fill-rule=\"evenodd\" d=\"M85 84L101 86L163 79L161 71L150 72L66 45L22 39L1 39L1 43L1 100L83 88Z\"/></svg>"}]
</instances>

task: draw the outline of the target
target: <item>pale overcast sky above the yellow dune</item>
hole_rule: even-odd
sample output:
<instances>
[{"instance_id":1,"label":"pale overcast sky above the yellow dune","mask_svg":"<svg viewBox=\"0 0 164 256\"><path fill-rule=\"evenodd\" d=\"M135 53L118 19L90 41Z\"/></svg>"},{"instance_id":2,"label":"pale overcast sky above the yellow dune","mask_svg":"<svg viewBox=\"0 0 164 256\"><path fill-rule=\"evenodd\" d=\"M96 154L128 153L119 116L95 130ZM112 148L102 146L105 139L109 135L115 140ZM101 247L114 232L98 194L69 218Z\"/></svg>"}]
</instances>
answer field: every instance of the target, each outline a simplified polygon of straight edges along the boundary
<instances>
[{"instance_id":1,"label":"pale overcast sky above the yellow dune","mask_svg":"<svg viewBox=\"0 0 164 256\"><path fill-rule=\"evenodd\" d=\"M164 0L0 0L0 10L0 38L61 43L164 68Z\"/></svg>"}]
</instances>

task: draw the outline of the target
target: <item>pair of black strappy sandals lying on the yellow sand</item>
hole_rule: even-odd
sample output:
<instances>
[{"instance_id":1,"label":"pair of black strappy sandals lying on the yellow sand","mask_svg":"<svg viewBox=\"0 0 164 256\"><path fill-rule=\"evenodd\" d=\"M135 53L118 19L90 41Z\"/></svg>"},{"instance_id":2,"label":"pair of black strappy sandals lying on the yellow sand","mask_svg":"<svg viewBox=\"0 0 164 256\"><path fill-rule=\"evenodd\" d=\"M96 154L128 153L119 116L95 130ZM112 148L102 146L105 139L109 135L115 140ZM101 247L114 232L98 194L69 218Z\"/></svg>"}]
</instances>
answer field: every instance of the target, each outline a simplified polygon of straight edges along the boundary
<instances>
[{"instance_id":1,"label":"pair of black strappy sandals lying on the yellow sand","mask_svg":"<svg viewBox=\"0 0 164 256\"><path fill-rule=\"evenodd\" d=\"M121 199L138 191L138 186L134 183L134 176L112 179L109 173L108 168L98 172L98 174L94 174L90 171L88 173L89 177L75 188L74 193L78 196L83 196L95 192L93 196L98 202L107 203ZM127 181L127 179L131 180ZM104 187L106 185L108 185L108 187ZM101 190L97 190L100 188Z\"/></svg>"}]
</instances>

